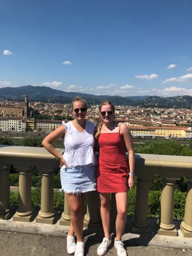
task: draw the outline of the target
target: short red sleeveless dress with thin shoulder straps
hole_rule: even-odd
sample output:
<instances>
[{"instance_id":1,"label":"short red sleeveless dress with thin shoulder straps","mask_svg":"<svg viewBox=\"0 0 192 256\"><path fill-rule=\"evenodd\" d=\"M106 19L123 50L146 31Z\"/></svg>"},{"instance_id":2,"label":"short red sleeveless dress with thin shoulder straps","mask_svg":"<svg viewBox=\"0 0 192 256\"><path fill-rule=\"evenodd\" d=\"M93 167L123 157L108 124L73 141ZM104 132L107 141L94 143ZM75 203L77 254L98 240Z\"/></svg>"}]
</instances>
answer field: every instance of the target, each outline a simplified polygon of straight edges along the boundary
<instances>
[{"instance_id":1,"label":"short red sleeveless dress with thin shoulder straps","mask_svg":"<svg viewBox=\"0 0 192 256\"><path fill-rule=\"evenodd\" d=\"M126 192L129 167L123 136L120 133L101 133L98 143L97 190L101 193Z\"/></svg>"}]
</instances>

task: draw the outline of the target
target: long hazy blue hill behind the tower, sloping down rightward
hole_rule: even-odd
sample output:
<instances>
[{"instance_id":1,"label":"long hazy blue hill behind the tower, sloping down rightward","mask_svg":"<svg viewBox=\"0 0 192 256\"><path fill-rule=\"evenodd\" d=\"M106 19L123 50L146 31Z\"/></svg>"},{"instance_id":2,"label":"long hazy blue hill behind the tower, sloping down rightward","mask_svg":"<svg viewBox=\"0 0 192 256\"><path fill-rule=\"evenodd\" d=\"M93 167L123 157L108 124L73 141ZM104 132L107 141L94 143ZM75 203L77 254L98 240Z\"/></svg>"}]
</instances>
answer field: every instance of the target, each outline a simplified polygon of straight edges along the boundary
<instances>
[{"instance_id":1,"label":"long hazy blue hill behind the tower, sloping down rightward","mask_svg":"<svg viewBox=\"0 0 192 256\"><path fill-rule=\"evenodd\" d=\"M80 96L87 100L88 103L100 104L104 100L111 100L115 105L131 105L133 101L129 98L121 96L109 96L109 95L93 95L86 93L76 92L63 92L55 89L51 89L45 86L23 86L23 87L5 87L0 89L0 97L2 99L17 99L24 100L26 92L29 95L29 100L36 101L49 101L60 103L71 103L71 100Z\"/></svg>"}]
</instances>

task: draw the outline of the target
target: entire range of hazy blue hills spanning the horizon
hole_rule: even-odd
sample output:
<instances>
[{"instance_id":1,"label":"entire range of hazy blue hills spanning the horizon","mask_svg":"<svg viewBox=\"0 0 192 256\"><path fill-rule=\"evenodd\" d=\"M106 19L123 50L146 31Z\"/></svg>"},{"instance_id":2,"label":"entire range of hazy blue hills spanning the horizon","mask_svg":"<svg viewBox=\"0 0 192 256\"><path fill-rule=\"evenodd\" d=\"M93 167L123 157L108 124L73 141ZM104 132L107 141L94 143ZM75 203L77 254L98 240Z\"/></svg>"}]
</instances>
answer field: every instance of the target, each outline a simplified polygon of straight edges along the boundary
<instances>
[{"instance_id":1,"label":"entire range of hazy blue hills spanning the horizon","mask_svg":"<svg viewBox=\"0 0 192 256\"><path fill-rule=\"evenodd\" d=\"M0 89L1 99L15 99L24 101L25 95L28 93L30 101L44 101L55 103L71 103L71 100L80 96L87 100L90 104L100 104L104 100L110 100L115 105L137 105L151 108L187 108L192 106L192 97L188 95L174 97L160 96L109 96L109 95L93 95L77 92L63 92L49 87L42 86L23 86L23 87L5 87Z\"/></svg>"}]
</instances>

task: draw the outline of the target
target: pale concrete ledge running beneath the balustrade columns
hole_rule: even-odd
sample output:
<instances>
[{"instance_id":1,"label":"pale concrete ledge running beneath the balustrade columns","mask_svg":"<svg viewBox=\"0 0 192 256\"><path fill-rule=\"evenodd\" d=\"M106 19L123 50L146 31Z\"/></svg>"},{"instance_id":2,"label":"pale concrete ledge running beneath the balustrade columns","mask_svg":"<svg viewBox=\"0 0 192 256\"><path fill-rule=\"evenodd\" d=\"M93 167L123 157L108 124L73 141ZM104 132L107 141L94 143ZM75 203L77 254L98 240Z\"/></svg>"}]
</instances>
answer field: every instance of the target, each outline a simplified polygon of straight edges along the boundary
<instances>
[{"instance_id":1,"label":"pale concrete ledge running beneath the balustrade columns","mask_svg":"<svg viewBox=\"0 0 192 256\"><path fill-rule=\"evenodd\" d=\"M153 225L153 226L152 226ZM125 246L158 246L165 248L179 248L179 249L192 249L192 239L184 238L181 231L178 231L178 237L159 236L156 233L156 227L154 225L154 219L150 219L150 227L152 229L151 234L134 234L131 233L131 218L127 220L127 226L123 235ZM43 234L46 236L67 237L69 233L69 226L60 226L59 221L55 225L39 224L35 221L31 223L16 222L11 220L0 221L0 230L9 232L31 233L31 234ZM97 229L84 229L84 239L93 240L98 243L103 238L102 228ZM114 238L114 234L112 233Z\"/></svg>"}]
</instances>

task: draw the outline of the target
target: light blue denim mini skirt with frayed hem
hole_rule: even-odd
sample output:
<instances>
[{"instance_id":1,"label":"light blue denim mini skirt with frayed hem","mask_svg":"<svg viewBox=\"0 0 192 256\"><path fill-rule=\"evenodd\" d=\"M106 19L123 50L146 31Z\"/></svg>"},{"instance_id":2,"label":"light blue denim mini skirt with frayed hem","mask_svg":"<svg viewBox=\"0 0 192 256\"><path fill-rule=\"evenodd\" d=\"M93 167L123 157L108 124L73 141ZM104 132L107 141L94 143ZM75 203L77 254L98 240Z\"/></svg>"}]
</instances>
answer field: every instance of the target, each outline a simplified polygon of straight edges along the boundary
<instances>
[{"instance_id":1,"label":"light blue denim mini skirt with frayed hem","mask_svg":"<svg viewBox=\"0 0 192 256\"><path fill-rule=\"evenodd\" d=\"M65 193L79 194L96 190L96 166L93 163L60 169L61 189Z\"/></svg>"}]
</instances>

